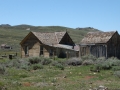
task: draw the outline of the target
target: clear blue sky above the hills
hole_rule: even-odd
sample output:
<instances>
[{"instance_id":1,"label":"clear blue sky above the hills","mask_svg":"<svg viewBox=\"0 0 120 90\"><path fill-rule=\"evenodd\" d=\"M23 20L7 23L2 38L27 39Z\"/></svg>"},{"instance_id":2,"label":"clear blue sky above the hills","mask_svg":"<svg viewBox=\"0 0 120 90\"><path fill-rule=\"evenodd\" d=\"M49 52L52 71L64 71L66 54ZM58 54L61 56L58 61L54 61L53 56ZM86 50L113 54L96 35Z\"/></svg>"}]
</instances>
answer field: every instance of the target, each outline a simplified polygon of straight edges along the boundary
<instances>
[{"instance_id":1,"label":"clear blue sky above the hills","mask_svg":"<svg viewBox=\"0 0 120 90\"><path fill-rule=\"evenodd\" d=\"M120 32L120 0L0 0L0 24Z\"/></svg>"}]
</instances>

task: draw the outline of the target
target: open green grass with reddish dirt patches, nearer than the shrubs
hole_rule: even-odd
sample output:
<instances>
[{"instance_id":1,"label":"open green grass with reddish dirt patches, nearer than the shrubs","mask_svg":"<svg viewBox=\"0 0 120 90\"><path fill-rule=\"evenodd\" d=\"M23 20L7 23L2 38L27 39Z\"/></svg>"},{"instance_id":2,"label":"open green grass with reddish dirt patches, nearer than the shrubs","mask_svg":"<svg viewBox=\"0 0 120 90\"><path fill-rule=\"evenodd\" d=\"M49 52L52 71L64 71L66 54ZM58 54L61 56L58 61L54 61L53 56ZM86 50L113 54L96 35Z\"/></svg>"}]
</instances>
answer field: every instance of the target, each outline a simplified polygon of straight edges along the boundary
<instances>
[{"instance_id":1,"label":"open green grass with reddish dirt patches, nearer than the shrubs","mask_svg":"<svg viewBox=\"0 0 120 90\"><path fill-rule=\"evenodd\" d=\"M44 66L44 69L24 70L7 68L1 75L1 85L7 90L88 90L100 85L110 90L120 88L120 80L113 75L112 70L91 72L91 66L66 66L60 70L54 66Z\"/></svg>"}]
</instances>

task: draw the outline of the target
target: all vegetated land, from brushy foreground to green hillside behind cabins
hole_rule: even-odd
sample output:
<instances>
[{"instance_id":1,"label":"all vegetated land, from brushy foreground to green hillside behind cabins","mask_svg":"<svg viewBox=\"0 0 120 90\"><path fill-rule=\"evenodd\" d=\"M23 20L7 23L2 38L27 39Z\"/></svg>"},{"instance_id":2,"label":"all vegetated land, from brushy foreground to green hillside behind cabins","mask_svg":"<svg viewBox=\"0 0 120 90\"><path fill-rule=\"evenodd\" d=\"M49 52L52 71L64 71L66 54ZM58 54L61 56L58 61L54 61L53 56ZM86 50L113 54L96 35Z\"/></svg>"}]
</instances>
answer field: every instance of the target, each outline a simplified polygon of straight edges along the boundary
<instances>
[{"instance_id":1,"label":"all vegetated land, from brushy foreground to green hillside behind cabins","mask_svg":"<svg viewBox=\"0 0 120 90\"><path fill-rule=\"evenodd\" d=\"M26 30L30 28L30 30ZM30 57L20 59L20 41L30 31L66 31L79 43L94 28L67 28L60 26L34 27L29 25L0 26L0 44L8 44L12 50L0 50L0 90L95 90L99 85L108 90L120 89L120 60L95 58L60 59ZM7 38L5 38L7 37ZM17 57L9 60L10 54ZM6 56L3 58L2 56Z\"/></svg>"}]
</instances>

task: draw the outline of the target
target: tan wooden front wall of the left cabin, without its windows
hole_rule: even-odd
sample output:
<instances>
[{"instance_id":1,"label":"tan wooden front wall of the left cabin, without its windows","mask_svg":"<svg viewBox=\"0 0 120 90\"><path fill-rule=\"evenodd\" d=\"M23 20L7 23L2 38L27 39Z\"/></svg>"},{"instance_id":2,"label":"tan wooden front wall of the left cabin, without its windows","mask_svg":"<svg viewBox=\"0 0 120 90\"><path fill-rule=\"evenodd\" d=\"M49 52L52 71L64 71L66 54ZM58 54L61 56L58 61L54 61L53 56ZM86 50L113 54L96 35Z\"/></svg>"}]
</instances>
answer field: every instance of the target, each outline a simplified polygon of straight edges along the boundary
<instances>
[{"instance_id":1,"label":"tan wooden front wall of the left cabin, without its windows","mask_svg":"<svg viewBox=\"0 0 120 90\"><path fill-rule=\"evenodd\" d=\"M50 50L54 50L53 48L51 48L49 46L40 44L38 41L36 41L36 42L30 41L29 43L27 41L26 43L27 43L26 45L29 47L28 55L25 55L25 46L26 45L23 45L21 48L22 49L21 50L22 58L23 57L39 57L39 56L50 57ZM40 55L40 47L43 47L42 55Z\"/></svg>"}]
</instances>

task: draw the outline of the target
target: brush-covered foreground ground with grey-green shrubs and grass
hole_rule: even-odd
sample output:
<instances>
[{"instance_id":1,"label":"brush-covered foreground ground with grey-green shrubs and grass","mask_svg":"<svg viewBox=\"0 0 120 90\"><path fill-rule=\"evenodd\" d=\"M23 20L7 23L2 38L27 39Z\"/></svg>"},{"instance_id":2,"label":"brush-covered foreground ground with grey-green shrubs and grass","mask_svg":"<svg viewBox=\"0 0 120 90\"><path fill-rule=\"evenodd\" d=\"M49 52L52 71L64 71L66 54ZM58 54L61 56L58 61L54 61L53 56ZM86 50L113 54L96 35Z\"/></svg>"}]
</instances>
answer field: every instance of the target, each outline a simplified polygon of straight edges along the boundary
<instances>
[{"instance_id":1,"label":"brush-covered foreground ground with grey-green shrubs and grass","mask_svg":"<svg viewBox=\"0 0 120 90\"><path fill-rule=\"evenodd\" d=\"M114 57L15 57L0 63L0 90L99 90L101 85L120 89L120 60Z\"/></svg>"}]
</instances>

